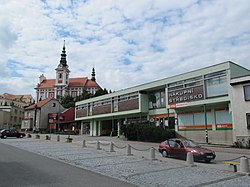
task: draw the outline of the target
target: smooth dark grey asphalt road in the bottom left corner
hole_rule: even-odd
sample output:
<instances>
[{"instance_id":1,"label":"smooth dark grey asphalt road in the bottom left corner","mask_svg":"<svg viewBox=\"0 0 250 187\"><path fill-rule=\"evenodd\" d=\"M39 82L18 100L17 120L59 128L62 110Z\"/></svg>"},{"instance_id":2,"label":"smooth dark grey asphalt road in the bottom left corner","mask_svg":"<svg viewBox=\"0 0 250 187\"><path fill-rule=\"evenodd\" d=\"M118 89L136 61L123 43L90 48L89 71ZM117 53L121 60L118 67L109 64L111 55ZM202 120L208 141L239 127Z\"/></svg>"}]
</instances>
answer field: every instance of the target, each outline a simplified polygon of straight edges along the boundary
<instances>
[{"instance_id":1,"label":"smooth dark grey asphalt road in the bottom left corner","mask_svg":"<svg viewBox=\"0 0 250 187\"><path fill-rule=\"evenodd\" d=\"M135 187L135 185L0 143L0 186Z\"/></svg>"}]
</instances>

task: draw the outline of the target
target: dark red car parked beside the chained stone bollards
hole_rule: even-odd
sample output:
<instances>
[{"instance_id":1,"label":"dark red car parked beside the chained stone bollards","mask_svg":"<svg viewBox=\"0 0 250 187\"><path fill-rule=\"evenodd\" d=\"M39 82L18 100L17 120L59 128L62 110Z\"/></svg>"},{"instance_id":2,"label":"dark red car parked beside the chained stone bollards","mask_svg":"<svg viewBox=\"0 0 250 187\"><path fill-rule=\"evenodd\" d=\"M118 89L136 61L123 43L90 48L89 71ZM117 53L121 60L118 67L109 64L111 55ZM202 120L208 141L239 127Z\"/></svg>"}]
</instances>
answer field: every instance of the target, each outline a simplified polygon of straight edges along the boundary
<instances>
[{"instance_id":1,"label":"dark red car parked beside the chained stone bollards","mask_svg":"<svg viewBox=\"0 0 250 187\"><path fill-rule=\"evenodd\" d=\"M205 162L210 162L215 158L215 152L202 148L197 143L186 140L173 138L161 142L159 145L159 152L163 157L176 157L181 159L186 159L187 152L191 152L194 155L194 160L201 160Z\"/></svg>"}]
</instances>

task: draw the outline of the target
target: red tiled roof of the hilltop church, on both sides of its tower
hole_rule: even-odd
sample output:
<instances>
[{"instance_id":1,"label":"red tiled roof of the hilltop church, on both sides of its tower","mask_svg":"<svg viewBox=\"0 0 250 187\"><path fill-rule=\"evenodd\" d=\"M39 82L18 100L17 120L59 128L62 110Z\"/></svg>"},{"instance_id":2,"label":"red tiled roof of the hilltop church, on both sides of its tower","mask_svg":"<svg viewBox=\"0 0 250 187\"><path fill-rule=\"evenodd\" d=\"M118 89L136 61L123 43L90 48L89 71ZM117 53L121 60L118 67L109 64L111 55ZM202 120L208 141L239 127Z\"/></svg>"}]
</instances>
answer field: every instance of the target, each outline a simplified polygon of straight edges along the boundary
<instances>
[{"instance_id":1,"label":"red tiled roof of the hilltop church, on both sides of its tower","mask_svg":"<svg viewBox=\"0 0 250 187\"><path fill-rule=\"evenodd\" d=\"M37 85L37 88L54 88L56 80L55 79L46 79L43 80L40 84ZM100 87L97 82L89 80L87 77L82 78L70 78L69 87Z\"/></svg>"}]
</instances>

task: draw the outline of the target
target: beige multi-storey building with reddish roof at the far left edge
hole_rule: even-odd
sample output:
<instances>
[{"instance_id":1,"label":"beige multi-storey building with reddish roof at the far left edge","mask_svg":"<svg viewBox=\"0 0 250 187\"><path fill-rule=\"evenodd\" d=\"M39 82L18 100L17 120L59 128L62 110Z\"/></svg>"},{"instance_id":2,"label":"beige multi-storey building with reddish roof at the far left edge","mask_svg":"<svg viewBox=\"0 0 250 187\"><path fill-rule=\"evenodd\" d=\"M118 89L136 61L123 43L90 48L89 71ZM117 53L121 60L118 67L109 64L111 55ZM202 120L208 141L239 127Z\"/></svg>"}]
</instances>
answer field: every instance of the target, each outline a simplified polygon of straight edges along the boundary
<instances>
[{"instance_id":1,"label":"beige multi-storey building with reddish roof at the far left edge","mask_svg":"<svg viewBox=\"0 0 250 187\"><path fill-rule=\"evenodd\" d=\"M0 129L21 127L24 108L31 105L34 99L31 95L0 95Z\"/></svg>"}]
</instances>

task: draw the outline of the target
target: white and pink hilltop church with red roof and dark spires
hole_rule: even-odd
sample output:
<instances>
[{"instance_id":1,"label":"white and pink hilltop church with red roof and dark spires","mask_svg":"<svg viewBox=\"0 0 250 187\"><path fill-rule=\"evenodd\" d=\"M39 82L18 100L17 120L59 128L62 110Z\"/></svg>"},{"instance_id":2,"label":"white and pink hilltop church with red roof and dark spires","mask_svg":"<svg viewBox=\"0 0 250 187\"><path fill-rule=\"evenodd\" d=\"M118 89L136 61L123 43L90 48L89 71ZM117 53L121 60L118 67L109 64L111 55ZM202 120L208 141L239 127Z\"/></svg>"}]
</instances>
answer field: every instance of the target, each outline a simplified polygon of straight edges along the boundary
<instances>
[{"instance_id":1,"label":"white and pink hilltop church with red roof and dark spires","mask_svg":"<svg viewBox=\"0 0 250 187\"><path fill-rule=\"evenodd\" d=\"M99 84L96 82L95 69L92 69L92 77L79 77L70 78L70 70L66 60L66 48L65 41L63 45L63 50L61 53L61 60L58 64L55 79L46 79L42 74L39 77L39 83L37 84L36 90L36 100L41 101L47 98L57 98L57 96L80 96L84 90L91 94L95 94L98 89L101 89Z\"/></svg>"}]
</instances>

